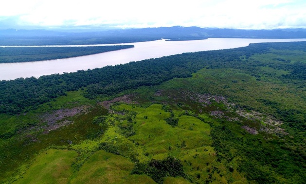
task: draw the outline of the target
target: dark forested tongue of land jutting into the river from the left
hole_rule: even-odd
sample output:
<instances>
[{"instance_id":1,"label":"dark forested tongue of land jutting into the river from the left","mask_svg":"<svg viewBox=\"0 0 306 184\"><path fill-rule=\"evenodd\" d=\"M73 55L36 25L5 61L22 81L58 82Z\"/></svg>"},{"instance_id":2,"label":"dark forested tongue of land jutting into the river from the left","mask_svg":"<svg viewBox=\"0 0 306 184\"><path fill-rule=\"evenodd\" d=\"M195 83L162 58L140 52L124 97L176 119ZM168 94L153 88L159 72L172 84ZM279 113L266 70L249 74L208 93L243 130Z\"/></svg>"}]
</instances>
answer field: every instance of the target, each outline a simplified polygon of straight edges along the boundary
<instances>
[{"instance_id":1,"label":"dark forested tongue of land jutting into the river from the left","mask_svg":"<svg viewBox=\"0 0 306 184\"><path fill-rule=\"evenodd\" d=\"M0 47L0 63L62 59L133 47L133 45L92 47Z\"/></svg>"}]
</instances>

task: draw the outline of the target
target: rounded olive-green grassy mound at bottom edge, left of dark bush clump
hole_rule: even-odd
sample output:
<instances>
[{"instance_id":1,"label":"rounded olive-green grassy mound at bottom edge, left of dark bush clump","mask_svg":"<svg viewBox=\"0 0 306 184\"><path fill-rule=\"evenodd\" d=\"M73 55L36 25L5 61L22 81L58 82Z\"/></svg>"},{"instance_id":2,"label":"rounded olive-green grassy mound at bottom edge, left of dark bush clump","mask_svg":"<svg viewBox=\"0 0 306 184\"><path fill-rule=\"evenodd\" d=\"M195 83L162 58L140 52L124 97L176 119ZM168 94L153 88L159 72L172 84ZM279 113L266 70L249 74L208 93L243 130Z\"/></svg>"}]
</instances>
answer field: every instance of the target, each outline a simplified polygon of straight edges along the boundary
<instances>
[{"instance_id":1,"label":"rounded olive-green grassy mound at bottom edge, left of dark bush clump","mask_svg":"<svg viewBox=\"0 0 306 184\"><path fill-rule=\"evenodd\" d=\"M118 184L127 177L134 164L121 155L95 152L81 167L72 184Z\"/></svg>"}]
</instances>

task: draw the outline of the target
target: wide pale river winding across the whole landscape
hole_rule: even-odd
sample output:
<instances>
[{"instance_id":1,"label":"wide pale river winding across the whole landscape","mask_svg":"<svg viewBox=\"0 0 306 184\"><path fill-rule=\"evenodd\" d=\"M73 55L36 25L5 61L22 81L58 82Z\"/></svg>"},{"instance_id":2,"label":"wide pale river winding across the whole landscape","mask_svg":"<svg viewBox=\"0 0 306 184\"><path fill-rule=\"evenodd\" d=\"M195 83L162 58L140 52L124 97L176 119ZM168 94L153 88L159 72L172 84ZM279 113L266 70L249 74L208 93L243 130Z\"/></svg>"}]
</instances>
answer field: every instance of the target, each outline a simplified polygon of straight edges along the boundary
<instances>
[{"instance_id":1,"label":"wide pale river winding across the whole landscape","mask_svg":"<svg viewBox=\"0 0 306 184\"><path fill-rule=\"evenodd\" d=\"M306 39L244 39L244 38L209 38L206 40L192 41L165 41L156 40L149 42L137 42L127 44L106 44L107 45L134 45L134 48L116 50L93 54L87 56L56 59L48 61L36 61L25 63L4 63L0 64L0 80L13 80L20 77L40 77L54 73L75 72L77 70L94 69L105 66L125 64L130 61L141 61L150 58L180 54L184 52L196 52L205 50L232 49L248 46L250 43L262 42L291 42L306 41ZM87 47L93 45L82 45ZM45 46L57 47L57 46ZM63 46L61 46L63 47Z\"/></svg>"}]
</instances>

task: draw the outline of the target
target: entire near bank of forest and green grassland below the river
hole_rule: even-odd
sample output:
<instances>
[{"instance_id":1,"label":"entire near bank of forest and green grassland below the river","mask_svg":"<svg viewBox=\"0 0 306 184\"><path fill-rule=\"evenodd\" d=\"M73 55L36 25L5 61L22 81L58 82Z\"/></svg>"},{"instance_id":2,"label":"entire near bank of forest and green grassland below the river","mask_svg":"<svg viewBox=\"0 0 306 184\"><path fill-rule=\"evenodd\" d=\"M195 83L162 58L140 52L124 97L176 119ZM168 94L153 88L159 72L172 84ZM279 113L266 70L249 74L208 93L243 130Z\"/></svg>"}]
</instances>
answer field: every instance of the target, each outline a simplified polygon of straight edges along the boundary
<instances>
[{"instance_id":1,"label":"entire near bank of forest and green grassland below the river","mask_svg":"<svg viewBox=\"0 0 306 184\"><path fill-rule=\"evenodd\" d=\"M0 181L304 184L305 48L259 43L1 81Z\"/></svg>"}]
</instances>

